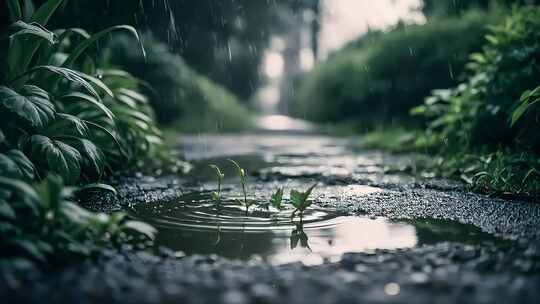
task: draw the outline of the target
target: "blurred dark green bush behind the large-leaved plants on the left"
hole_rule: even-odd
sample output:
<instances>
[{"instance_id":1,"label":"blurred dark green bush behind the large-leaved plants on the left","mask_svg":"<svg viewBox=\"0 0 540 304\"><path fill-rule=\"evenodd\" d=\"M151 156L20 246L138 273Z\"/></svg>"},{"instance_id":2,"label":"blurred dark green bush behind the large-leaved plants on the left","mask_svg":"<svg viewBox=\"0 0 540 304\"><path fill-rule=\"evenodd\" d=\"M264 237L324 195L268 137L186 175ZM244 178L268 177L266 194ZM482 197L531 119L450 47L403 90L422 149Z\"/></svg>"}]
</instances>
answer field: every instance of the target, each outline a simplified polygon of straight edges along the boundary
<instances>
[{"instance_id":1,"label":"blurred dark green bush behind the large-leaved plants on the left","mask_svg":"<svg viewBox=\"0 0 540 304\"><path fill-rule=\"evenodd\" d=\"M247 109L224 87L193 71L184 60L150 35L143 39L147 56L137 52L137 41L117 37L106 51L107 62L147 82L160 122L176 123L182 131L232 131L251 126Z\"/></svg>"}]
</instances>

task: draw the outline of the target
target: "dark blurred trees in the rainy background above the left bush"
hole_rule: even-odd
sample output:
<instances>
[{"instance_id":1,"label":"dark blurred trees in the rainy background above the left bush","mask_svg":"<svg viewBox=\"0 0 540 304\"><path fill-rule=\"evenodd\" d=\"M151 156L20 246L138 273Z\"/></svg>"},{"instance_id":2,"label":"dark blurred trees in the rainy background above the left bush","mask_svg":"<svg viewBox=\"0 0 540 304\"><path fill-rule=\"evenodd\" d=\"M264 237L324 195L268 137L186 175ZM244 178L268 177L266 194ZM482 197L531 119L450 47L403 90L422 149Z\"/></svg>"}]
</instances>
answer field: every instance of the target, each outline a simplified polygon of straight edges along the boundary
<instances>
[{"instance_id":1,"label":"dark blurred trees in the rainy background above the left bush","mask_svg":"<svg viewBox=\"0 0 540 304\"><path fill-rule=\"evenodd\" d=\"M36 4L46 0L35 0ZM5 1L0 3L7 24ZM319 0L67 0L51 28L91 32L116 24L152 31L196 71L225 85L242 99L260 81L259 65L272 33L286 30L283 10L318 12ZM314 30L318 30L313 21ZM316 42L313 43L316 48Z\"/></svg>"}]
</instances>

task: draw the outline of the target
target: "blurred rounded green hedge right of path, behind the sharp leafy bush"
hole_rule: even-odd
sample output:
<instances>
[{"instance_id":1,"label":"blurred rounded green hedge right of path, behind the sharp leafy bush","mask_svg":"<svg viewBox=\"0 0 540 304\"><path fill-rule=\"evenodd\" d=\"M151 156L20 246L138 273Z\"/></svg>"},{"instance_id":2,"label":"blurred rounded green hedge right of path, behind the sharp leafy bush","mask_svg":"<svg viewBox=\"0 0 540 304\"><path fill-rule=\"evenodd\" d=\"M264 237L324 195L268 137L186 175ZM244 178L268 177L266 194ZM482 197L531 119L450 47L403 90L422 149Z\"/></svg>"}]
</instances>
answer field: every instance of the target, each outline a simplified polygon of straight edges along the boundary
<instances>
[{"instance_id":1,"label":"blurred rounded green hedge right of path, behind the sharp leafy bush","mask_svg":"<svg viewBox=\"0 0 540 304\"><path fill-rule=\"evenodd\" d=\"M482 46L486 23L495 18L472 12L369 35L369 43L349 45L301 81L293 112L368 126L411 120L408 111L431 90L457 84L468 55Z\"/></svg>"}]
</instances>

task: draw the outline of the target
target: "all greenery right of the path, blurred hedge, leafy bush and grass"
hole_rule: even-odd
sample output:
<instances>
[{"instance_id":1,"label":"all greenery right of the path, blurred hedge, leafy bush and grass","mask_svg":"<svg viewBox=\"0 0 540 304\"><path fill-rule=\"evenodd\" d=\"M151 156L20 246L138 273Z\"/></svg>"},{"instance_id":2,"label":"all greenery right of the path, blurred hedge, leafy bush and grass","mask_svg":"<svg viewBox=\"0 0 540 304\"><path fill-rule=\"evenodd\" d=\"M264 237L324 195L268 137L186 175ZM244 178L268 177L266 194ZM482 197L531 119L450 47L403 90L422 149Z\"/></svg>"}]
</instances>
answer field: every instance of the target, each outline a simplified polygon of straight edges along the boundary
<instances>
[{"instance_id":1,"label":"all greenery right of the path, blurred hedge, leafy bush and grass","mask_svg":"<svg viewBox=\"0 0 540 304\"><path fill-rule=\"evenodd\" d=\"M297 115L352 120L345 129L363 132L363 147L431 154L418 158L415 171L422 175L457 178L483 193L538 199L540 9L461 15L462 21L439 17L347 46L303 80ZM426 33L432 37L422 53L415 40ZM418 58L395 51L409 47L408 56ZM429 66L438 72L424 69ZM402 79L391 76L400 73ZM324 110L315 113L318 107Z\"/></svg>"}]
</instances>

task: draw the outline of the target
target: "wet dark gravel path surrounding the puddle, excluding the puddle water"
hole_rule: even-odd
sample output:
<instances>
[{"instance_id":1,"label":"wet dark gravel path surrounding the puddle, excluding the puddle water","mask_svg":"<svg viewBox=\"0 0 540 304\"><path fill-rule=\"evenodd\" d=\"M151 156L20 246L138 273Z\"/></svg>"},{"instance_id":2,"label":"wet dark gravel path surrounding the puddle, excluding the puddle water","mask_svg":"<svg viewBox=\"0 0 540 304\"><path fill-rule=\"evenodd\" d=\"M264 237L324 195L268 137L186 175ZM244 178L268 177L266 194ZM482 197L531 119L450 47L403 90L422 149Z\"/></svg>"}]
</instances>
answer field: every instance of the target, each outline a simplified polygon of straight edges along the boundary
<instances>
[{"instance_id":1,"label":"wet dark gravel path surrounding the puddle, excluding the puddle water","mask_svg":"<svg viewBox=\"0 0 540 304\"><path fill-rule=\"evenodd\" d=\"M357 151L342 139L311 135L235 135L183 138L182 155L194 163L188 177L118 181L117 197L86 206L120 210L174 200L211 189L209 162L232 157L250 170L255 196L277 185L307 188L316 202L350 214L391 219L438 218L472 224L516 240L504 245L440 242L411 249L347 253L319 266L239 262L216 256L174 258L106 253L98 261L49 274L3 274L5 303L538 303L540 204L468 193L458 183L400 173L410 156ZM391 173L392 172L392 173ZM363 186L378 191L362 193ZM239 194L226 180L225 194ZM360 187L360 188L358 188Z\"/></svg>"}]
</instances>

